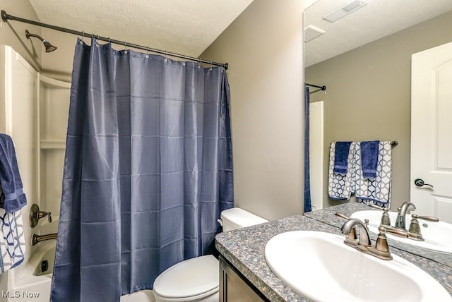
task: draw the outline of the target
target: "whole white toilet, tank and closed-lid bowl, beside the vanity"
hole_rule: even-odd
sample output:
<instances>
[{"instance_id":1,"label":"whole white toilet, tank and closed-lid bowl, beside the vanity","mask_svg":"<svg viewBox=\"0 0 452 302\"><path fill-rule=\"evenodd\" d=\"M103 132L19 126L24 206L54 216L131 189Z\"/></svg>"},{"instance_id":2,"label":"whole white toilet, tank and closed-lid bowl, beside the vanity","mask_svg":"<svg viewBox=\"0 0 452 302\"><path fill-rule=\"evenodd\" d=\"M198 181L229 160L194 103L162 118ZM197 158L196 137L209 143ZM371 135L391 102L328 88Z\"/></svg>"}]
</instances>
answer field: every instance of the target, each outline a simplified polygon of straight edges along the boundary
<instances>
[{"instance_id":1,"label":"whole white toilet, tank and closed-lid bowl, beside the vanity","mask_svg":"<svg viewBox=\"0 0 452 302\"><path fill-rule=\"evenodd\" d=\"M231 231L268 220L239 207L224 210L218 222L223 231ZM218 302L219 267L217 258L204 255L169 267L154 282L156 302Z\"/></svg>"}]
</instances>

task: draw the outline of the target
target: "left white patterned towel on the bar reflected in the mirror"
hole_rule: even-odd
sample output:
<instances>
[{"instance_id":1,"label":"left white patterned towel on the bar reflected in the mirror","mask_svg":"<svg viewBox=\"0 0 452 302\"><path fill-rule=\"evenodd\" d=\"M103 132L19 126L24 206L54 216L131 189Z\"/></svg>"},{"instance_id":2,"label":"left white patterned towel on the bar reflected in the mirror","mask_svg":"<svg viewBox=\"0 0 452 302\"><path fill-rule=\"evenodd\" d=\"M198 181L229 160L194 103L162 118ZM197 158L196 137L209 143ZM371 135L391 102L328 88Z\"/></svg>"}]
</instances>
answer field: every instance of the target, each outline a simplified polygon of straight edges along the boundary
<instances>
[{"instance_id":1,"label":"left white patterned towel on the bar reflected in the mirror","mask_svg":"<svg viewBox=\"0 0 452 302\"><path fill-rule=\"evenodd\" d=\"M353 178L353 167L355 167L355 146L350 144L350 152L347 157L347 173L345 175L334 173L334 155L336 143L330 145L330 164L328 171L328 195L335 200L349 200L355 186Z\"/></svg>"}]
</instances>

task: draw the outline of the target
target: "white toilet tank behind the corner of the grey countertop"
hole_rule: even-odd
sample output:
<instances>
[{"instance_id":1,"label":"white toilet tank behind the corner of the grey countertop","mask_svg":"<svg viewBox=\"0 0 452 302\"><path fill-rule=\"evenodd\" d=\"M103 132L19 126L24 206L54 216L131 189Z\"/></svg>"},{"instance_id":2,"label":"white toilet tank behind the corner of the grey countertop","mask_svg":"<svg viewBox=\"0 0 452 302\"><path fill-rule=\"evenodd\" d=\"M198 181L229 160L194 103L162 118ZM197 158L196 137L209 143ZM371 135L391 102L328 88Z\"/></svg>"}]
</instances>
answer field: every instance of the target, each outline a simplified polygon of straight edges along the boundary
<instances>
[{"instance_id":1,"label":"white toilet tank behind the corner of the grey countertop","mask_svg":"<svg viewBox=\"0 0 452 302\"><path fill-rule=\"evenodd\" d=\"M233 207L232 209L222 211L218 222L223 226L223 231L232 231L233 229L249 227L254 224L263 224L264 222L268 222L268 220L246 212L239 207Z\"/></svg>"}]
</instances>

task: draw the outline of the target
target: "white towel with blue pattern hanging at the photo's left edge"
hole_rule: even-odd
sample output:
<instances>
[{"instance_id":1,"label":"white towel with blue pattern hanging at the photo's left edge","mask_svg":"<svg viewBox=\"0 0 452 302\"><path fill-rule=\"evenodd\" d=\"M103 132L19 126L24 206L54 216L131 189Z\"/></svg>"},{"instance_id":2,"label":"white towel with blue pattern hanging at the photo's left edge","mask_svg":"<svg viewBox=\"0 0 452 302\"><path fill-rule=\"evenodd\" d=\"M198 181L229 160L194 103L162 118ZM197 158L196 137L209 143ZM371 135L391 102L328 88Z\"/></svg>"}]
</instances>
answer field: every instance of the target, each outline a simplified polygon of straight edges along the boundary
<instances>
[{"instance_id":1,"label":"white towel with blue pattern hanging at the photo's left edge","mask_svg":"<svg viewBox=\"0 0 452 302\"><path fill-rule=\"evenodd\" d=\"M20 210L8 213L0 208L0 253L0 273L23 262L25 235Z\"/></svg>"}]
</instances>

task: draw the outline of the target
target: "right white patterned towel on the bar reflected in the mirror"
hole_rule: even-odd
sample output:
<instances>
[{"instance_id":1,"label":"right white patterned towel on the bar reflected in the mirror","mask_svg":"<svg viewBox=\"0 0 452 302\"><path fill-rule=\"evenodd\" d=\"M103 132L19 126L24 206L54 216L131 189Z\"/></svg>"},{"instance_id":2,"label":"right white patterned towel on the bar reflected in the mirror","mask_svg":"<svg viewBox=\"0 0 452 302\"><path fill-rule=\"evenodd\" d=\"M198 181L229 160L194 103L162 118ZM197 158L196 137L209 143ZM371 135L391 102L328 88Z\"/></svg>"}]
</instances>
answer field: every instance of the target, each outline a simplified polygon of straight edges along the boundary
<instances>
[{"instance_id":1,"label":"right white patterned towel on the bar reflected in the mirror","mask_svg":"<svg viewBox=\"0 0 452 302\"><path fill-rule=\"evenodd\" d=\"M379 143L379 159L376 167L376 179L365 179L361 167L360 145L355 145L355 195L359 202L391 207L391 142Z\"/></svg>"}]
</instances>

